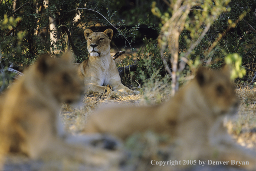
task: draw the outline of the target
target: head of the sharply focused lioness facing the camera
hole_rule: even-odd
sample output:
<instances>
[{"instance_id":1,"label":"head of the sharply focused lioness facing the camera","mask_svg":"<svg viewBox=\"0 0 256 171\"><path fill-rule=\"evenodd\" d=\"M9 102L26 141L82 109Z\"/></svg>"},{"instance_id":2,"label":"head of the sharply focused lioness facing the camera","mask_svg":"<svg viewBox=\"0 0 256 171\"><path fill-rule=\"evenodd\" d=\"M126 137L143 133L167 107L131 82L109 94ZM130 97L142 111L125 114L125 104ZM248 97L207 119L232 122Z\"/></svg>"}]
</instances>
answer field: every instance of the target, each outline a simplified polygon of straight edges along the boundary
<instances>
[{"instance_id":1,"label":"head of the sharply focused lioness facing the camera","mask_svg":"<svg viewBox=\"0 0 256 171\"><path fill-rule=\"evenodd\" d=\"M110 41L113 37L112 29L108 28L104 32L92 32L88 28L84 31L84 35L90 56L104 56L110 51Z\"/></svg>"}]
</instances>

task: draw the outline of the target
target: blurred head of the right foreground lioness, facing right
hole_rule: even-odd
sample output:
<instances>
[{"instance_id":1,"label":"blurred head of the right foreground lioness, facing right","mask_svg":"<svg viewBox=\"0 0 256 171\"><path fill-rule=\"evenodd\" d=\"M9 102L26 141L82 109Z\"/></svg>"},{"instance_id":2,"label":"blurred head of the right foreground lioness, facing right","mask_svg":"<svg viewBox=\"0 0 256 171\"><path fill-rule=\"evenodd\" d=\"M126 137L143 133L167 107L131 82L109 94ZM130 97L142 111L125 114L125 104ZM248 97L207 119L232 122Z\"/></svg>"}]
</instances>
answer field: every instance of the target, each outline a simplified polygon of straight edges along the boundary
<instances>
[{"instance_id":1,"label":"blurred head of the right foreground lioness, facing right","mask_svg":"<svg viewBox=\"0 0 256 171\"><path fill-rule=\"evenodd\" d=\"M195 79L202 90L205 102L214 114L236 113L238 99L235 86L230 81L230 68L225 66L222 70L209 70L200 67Z\"/></svg>"}]
</instances>

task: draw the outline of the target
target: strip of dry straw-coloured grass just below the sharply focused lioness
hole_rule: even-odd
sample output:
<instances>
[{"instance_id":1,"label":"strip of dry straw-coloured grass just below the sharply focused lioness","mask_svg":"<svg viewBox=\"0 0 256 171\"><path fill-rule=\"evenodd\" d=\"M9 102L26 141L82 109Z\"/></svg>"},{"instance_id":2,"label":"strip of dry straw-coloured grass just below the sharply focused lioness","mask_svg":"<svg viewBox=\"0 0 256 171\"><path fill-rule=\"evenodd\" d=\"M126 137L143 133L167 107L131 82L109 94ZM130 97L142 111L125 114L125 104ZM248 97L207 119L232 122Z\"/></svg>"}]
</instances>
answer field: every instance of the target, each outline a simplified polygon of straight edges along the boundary
<instances>
[{"instance_id":1,"label":"strip of dry straw-coloured grass just below the sharply focused lioness","mask_svg":"<svg viewBox=\"0 0 256 171\"><path fill-rule=\"evenodd\" d=\"M133 105L154 105L166 101L170 98L170 86L163 80L148 81L142 90L143 95L107 95L94 93L85 95L82 103L75 106L62 104L62 121L66 125L66 130L71 133L79 133L83 130L87 118L90 114L101 106L133 104Z\"/></svg>"}]
</instances>

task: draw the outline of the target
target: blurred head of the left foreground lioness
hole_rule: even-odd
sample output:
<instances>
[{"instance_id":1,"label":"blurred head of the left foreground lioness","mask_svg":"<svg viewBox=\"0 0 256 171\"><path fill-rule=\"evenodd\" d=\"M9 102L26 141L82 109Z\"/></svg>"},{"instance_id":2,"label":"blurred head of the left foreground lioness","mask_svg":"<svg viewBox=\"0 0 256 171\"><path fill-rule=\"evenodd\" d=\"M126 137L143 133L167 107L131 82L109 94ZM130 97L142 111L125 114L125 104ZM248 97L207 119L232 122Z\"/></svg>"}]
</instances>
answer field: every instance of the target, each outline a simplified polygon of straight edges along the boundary
<instances>
[{"instance_id":1,"label":"blurred head of the left foreground lioness","mask_svg":"<svg viewBox=\"0 0 256 171\"><path fill-rule=\"evenodd\" d=\"M40 87L42 92L50 91L59 102L72 103L81 98L84 84L71 64L70 53L62 55L60 59L43 55L35 65L36 76L43 83L43 87Z\"/></svg>"}]
</instances>

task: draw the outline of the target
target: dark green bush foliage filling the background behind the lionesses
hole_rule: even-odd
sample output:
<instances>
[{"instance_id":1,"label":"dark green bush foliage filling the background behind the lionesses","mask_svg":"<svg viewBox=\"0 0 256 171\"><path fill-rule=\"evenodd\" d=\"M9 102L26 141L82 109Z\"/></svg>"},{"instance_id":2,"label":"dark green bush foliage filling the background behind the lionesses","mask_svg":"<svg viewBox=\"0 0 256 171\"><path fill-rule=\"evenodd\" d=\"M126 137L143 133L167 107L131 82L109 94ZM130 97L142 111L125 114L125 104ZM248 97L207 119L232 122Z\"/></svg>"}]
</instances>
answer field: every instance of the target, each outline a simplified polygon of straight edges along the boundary
<instances>
[{"instance_id":1,"label":"dark green bush foliage filling the background behind the lionesses","mask_svg":"<svg viewBox=\"0 0 256 171\"><path fill-rule=\"evenodd\" d=\"M117 34L114 36L124 38L126 46L135 52L137 58L138 69L125 75L125 84L133 84L137 87L148 80L159 80L166 75L170 77L171 73L165 70L166 67L170 70L173 68L172 54L168 49L170 42L168 44L166 41L167 47L164 51L160 51L159 40L144 38L144 44L141 44L141 48L137 48L137 51L131 42L138 34L143 35L138 32L141 25L153 28L160 34L161 28L174 15L174 3L178 1L50 0L47 2L47 0L19 0L15 4L13 0L0 2L2 68L29 66L40 54L58 54L69 49L76 55L76 61L81 62L88 57L83 30L89 26L97 28L101 25L113 25L117 28ZM192 4L193 0L187 2ZM209 11L205 2L216 10ZM178 40L178 63L181 62L181 57L188 51L190 45L198 40L201 32L206 28L207 17L213 16L217 11L217 6L220 4L216 2L204 1L204 3L194 3L190 7L184 20L184 29L181 30ZM185 1L181 3L182 5L185 5ZM231 63L235 63L236 59L241 59L240 64L250 69L243 80L250 81L254 76L253 70L256 70L254 62L256 55L255 8L255 0L223 3L218 9L222 10L222 13L217 15L202 40L190 52L185 70L178 73L181 76L178 81L182 81L183 76L189 74L190 70L193 70L199 63L207 64L212 68L220 68L227 56L234 60ZM76 22L74 22L75 16L80 16ZM204 20L200 20L199 16L204 16ZM49 30L53 22L51 18L56 22L56 31ZM53 33L56 41L50 40L50 32ZM235 56L238 58L235 58L233 54L237 54ZM166 64L163 58L166 59ZM126 59L120 66L133 63L133 60ZM238 74L240 70L240 67L236 68ZM244 72L243 70L242 73Z\"/></svg>"}]
</instances>

